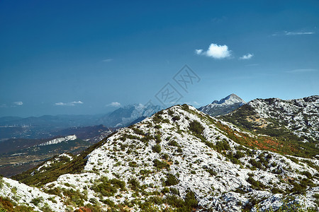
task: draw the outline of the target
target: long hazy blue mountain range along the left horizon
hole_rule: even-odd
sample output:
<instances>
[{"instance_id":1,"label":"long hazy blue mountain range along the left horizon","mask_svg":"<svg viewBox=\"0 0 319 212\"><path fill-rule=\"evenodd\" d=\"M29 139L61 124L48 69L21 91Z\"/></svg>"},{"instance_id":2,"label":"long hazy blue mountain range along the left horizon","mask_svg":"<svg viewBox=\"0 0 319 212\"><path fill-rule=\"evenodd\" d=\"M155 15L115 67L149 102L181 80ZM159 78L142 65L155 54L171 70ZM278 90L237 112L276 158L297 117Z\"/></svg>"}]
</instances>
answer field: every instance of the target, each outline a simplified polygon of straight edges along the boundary
<instances>
[{"instance_id":1,"label":"long hazy blue mountain range along the left horizon","mask_svg":"<svg viewBox=\"0 0 319 212\"><path fill-rule=\"evenodd\" d=\"M126 105L108 114L45 115L42 117L1 117L0 142L6 139L47 139L55 131L71 127L96 126L108 128L129 126L162 110L159 105Z\"/></svg>"}]
</instances>

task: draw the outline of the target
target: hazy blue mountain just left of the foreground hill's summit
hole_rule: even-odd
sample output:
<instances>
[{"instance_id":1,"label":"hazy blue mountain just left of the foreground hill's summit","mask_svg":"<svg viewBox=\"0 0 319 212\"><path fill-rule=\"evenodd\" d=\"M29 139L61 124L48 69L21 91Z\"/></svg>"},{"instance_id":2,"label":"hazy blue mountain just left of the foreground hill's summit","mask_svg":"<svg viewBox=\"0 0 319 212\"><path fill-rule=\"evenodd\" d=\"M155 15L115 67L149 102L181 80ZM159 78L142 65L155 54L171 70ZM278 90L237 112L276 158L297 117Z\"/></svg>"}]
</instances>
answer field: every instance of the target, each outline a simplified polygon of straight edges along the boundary
<instances>
[{"instance_id":1,"label":"hazy blue mountain just left of the foreground hill's summit","mask_svg":"<svg viewBox=\"0 0 319 212\"><path fill-rule=\"evenodd\" d=\"M145 106L142 104L126 105L120 107L118 110L105 115L98 120L99 123L105 126L128 126L135 120L142 121L142 117L150 117L155 112L162 110L163 108L156 106Z\"/></svg>"}]
</instances>

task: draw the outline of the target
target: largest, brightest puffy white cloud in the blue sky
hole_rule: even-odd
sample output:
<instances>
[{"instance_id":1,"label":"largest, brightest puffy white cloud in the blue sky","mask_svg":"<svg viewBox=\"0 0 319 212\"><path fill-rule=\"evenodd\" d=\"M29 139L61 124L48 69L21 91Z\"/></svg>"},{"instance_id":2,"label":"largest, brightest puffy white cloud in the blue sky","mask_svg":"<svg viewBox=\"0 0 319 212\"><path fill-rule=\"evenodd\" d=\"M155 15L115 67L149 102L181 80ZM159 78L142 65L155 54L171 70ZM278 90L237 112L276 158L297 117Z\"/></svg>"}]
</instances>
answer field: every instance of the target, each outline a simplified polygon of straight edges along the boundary
<instances>
[{"instance_id":1,"label":"largest, brightest puffy white cloud in the blue sky","mask_svg":"<svg viewBox=\"0 0 319 212\"><path fill-rule=\"evenodd\" d=\"M196 49L195 53L198 55L205 55L206 57L213 57L215 59L224 59L231 55L231 51L228 50L228 46L217 45L214 43L209 45L207 51L203 51L203 49Z\"/></svg>"}]
</instances>

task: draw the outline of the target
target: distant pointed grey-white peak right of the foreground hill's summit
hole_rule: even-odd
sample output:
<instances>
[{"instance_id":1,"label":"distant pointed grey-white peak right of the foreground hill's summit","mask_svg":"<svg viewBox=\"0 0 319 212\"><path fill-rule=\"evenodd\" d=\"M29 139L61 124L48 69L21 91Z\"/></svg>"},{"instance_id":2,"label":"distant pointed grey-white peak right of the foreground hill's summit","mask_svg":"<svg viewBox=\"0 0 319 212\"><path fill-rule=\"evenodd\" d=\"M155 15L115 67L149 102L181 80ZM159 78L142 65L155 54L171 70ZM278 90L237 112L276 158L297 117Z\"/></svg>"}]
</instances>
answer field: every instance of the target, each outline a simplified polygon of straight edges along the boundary
<instances>
[{"instance_id":1,"label":"distant pointed grey-white peak right of the foreground hill's summit","mask_svg":"<svg viewBox=\"0 0 319 212\"><path fill-rule=\"evenodd\" d=\"M230 94L227 97L221 99L221 100L215 100L211 102L211 104L200 107L198 110L201 112L204 112L206 114L209 114L212 117L216 117L218 115L228 114L230 112L233 112L238 107L241 107L246 102L242 100L240 97L238 97L235 94Z\"/></svg>"}]
</instances>

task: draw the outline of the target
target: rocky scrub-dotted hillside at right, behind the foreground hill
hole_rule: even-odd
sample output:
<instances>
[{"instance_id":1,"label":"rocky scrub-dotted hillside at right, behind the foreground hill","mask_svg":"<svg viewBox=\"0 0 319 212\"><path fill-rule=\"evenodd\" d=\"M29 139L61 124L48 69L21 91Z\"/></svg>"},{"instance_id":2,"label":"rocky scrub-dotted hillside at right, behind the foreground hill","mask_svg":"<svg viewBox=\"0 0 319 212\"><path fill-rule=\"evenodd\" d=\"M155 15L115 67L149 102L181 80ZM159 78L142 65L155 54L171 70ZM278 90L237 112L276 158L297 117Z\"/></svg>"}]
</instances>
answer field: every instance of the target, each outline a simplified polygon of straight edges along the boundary
<instances>
[{"instance_id":1,"label":"rocky scrub-dotted hillside at right, behind the foreground hill","mask_svg":"<svg viewBox=\"0 0 319 212\"><path fill-rule=\"evenodd\" d=\"M256 99L220 118L257 134L291 142L297 151L307 149L303 156L319 154L318 95L296 100Z\"/></svg>"}]
</instances>

